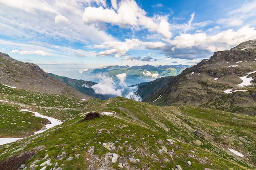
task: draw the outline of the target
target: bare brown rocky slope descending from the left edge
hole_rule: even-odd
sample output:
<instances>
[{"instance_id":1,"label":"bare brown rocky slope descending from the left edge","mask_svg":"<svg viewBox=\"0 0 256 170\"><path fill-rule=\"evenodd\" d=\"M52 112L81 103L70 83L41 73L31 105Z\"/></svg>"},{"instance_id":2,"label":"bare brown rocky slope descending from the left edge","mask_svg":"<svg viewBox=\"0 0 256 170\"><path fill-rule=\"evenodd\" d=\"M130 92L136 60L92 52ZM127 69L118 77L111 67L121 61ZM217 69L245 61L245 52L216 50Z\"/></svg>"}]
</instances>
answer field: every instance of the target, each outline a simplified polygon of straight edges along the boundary
<instances>
[{"instance_id":1,"label":"bare brown rocky slope descending from the left edge","mask_svg":"<svg viewBox=\"0 0 256 170\"><path fill-rule=\"evenodd\" d=\"M0 53L0 84L14 86L32 92L47 94L63 94L69 97L84 98L86 96L76 89L52 78L33 63L23 63Z\"/></svg>"}]
</instances>

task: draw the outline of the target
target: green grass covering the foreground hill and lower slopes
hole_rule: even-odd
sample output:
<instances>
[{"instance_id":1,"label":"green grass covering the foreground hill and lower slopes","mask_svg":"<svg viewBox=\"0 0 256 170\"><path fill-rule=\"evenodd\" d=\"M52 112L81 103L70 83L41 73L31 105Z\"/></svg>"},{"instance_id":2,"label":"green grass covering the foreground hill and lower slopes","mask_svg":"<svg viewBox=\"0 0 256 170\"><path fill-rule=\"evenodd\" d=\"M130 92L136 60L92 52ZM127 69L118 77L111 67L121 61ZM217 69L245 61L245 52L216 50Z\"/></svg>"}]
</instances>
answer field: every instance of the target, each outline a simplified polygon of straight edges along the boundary
<instances>
[{"instance_id":1,"label":"green grass covering the foreground hill and lower slopes","mask_svg":"<svg viewBox=\"0 0 256 170\"><path fill-rule=\"evenodd\" d=\"M61 166L63 169L74 167L86 169L92 164L101 165L101 159L104 159L108 152L117 153L120 156L119 159L129 157L140 159L137 165L128 161L130 168L170 169L180 164L182 169L228 169L229 167L246 169L252 168L249 163L255 165L256 151L253 146L256 142L256 118L253 116L195 106L158 107L122 97L103 101L83 101L65 96L26 92L5 86L1 86L0 89L3 94L0 100L16 102L16 104L0 102L0 114L4 117L0 117L0 120L4 120L3 124L7 121L10 124L12 122L17 124L17 120L23 117L26 121L25 126L23 124L24 128L29 127L27 122L31 122L33 126L42 126L44 119L33 117L29 112L19 111L24 107L64 121L60 126L42 134L0 147L0 160L20 155L24 150L38 150L40 146L38 153L27 161L28 167L35 160L39 160L36 164L40 165L45 159L51 159L54 164L58 163L59 166L63 164ZM33 105L34 102L36 105ZM102 115L91 121L80 122L86 111L108 111L115 113L116 117ZM10 126L9 130L4 131L2 128L7 129L7 126L1 126L2 135L15 136L10 133L10 131L15 132L14 127ZM31 133L36 128L31 126L28 132ZM234 140L234 145L220 143L216 139L204 141L194 134L197 129L203 129L213 137L225 135ZM174 139L174 144L170 144L167 138ZM196 146L193 143L194 140L202 141L203 145ZM113 142L115 149L108 150L103 147L102 144L108 144L108 142ZM167 148L168 153L162 151L162 146ZM89 153L92 147L93 155L97 157L96 162L86 159L93 156ZM225 150L227 147L246 153L245 158L249 161L238 157L235 159L227 153ZM13 153L18 148L22 149ZM171 150L174 150L174 153L171 153ZM77 156L77 154L80 155ZM173 154L172 157L170 154ZM56 159L57 157L62 159ZM68 161L69 157L74 159ZM192 162L192 167L186 164L188 160ZM117 164L110 163L108 166L116 168ZM42 167L38 166L36 169L40 168ZM50 166L47 167L47 169L50 168Z\"/></svg>"}]
</instances>

